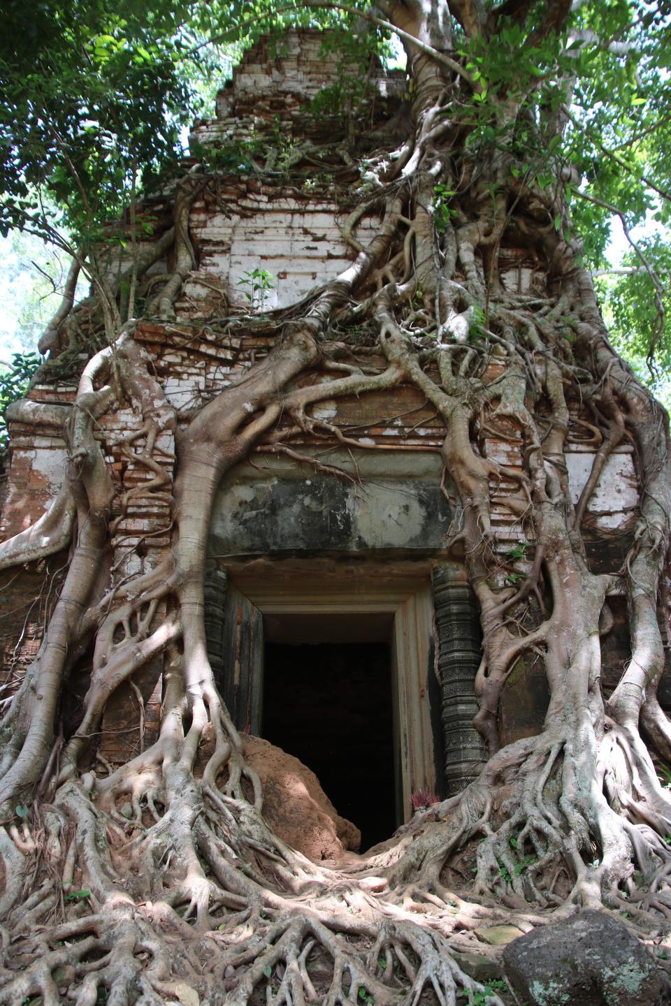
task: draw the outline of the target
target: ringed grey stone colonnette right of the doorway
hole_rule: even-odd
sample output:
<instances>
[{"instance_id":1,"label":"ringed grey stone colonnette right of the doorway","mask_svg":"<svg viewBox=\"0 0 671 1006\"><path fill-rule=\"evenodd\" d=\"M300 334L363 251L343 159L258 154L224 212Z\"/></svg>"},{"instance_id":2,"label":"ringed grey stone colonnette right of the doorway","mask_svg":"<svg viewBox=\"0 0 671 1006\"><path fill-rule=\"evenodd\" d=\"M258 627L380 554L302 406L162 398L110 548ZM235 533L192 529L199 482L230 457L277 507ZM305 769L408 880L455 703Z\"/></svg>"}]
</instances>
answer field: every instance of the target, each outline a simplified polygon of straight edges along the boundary
<instances>
[{"instance_id":1,"label":"ringed grey stone colonnette right of the doorway","mask_svg":"<svg viewBox=\"0 0 671 1006\"><path fill-rule=\"evenodd\" d=\"M482 641L478 606L470 586L454 577L453 569L434 570L447 796L476 779L486 762L484 741L473 727Z\"/></svg>"}]
</instances>

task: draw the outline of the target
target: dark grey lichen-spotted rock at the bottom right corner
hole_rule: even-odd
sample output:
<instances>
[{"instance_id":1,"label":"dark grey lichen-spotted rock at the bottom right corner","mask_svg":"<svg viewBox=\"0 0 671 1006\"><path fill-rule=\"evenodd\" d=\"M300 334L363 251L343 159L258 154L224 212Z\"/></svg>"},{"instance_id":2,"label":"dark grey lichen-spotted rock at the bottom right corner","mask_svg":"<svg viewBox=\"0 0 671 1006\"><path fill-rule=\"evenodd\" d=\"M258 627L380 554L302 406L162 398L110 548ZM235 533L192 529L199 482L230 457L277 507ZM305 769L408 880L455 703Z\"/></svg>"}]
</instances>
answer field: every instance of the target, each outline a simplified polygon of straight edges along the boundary
<instances>
[{"instance_id":1,"label":"dark grey lichen-spotted rock at the bottom right corner","mask_svg":"<svg viewBox=\"0 0 671 1006\"><path fill-rule=\"evenodd\" d=\"M503 951L506 977L528 1006L653 1006L661 973L624 923L604 911L539 927Z\"/></svg>"}]
</instances>

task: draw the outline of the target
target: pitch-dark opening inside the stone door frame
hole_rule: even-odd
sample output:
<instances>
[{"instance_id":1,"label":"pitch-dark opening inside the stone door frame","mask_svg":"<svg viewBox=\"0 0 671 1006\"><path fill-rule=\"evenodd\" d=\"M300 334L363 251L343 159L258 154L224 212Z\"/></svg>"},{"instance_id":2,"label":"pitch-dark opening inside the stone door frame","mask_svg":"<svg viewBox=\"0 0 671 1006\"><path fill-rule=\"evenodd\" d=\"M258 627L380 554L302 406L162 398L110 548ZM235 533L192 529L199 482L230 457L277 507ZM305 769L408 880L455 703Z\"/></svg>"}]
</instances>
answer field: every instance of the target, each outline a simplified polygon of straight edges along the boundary
<instances>
[{"instance_id":1,"label":"pitch-dark opening inside the stone door frame","mask_svg":"<svg viewBox=\"0 0 671 1006\"><path fill-rule=\"evenodd\" d=\"M324 637L338 638L340 619L329 627L292 616L275 631L269 621L263 736L312 769L361 830L364 851L396 827L388 630L383 641L331 642ZM285 641L291 636L296 642Z\"/></svg>"}]
</instances>

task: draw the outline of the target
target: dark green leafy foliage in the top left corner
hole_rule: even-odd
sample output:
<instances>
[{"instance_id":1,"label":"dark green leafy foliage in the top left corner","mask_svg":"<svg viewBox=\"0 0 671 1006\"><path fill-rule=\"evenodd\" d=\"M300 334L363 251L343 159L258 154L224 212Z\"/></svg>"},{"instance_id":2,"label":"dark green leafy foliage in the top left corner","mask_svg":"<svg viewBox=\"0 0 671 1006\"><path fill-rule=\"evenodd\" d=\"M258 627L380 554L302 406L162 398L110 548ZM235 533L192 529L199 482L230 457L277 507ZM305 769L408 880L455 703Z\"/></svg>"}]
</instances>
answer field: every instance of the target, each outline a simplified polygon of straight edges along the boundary
<instances>
[{"instance_id":1,"label":"dark green leafy foliage in the top left corner","mask_svg":"<svg viewBox=\"0 0 671 1006\"><path fill-rule=\"evenodd\" d=\"M192 5L191 5L192 6ZM95 240L139 180L170 167L189 113L190 6L8 0L0 33L0 231L53 238L44 199Z\"/></svg>"}]
</instances>

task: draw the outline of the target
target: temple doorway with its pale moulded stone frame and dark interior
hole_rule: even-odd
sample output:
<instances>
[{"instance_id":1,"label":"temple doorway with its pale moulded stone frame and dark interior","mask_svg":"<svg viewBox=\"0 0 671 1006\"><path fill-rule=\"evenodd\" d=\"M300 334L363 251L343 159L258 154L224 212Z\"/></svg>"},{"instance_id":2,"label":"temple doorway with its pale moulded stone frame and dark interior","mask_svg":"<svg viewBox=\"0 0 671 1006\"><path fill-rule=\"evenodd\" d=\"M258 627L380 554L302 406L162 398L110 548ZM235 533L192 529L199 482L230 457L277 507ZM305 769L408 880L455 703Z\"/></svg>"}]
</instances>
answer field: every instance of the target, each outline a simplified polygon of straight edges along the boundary
<instances>
[{"instance_id":1,"label":"temple doorway with its pale moulded stone frame and dark interior","mask_svg":"<svg viewBox=\"0 0 671 1006\"><path fill-rule=\"evenodd\" d=\"M336 731L342 733L339 750L356 754L356 746L361 742L357 734L365 734L371 729L369 723L362 725L356 719L357 705L368 703L368 709L372 706L369 720L374 719L381 729L382 724L388 723L390 703L391 765L387 770L389 760L384 751L388 751L388 733L385 733L383 738L378 737L382 761L372 773L388 780L392 787L392 796L389 798L386 789L383 798L392 808L391 818L387 812L387 824L380 828L386 832L381 837L388 838L394 828L409 819L411 794L420 789L436 790L439 772L442 772L432 718L432 708L436 713L438 706L434 706L430 698L430 680L434 675L430 580L428 576L403 576L397 571L389 574L386 569L372 574L370 566L364 573L354 565L347 569L340 567L337 574L325 576L316 566L317 563L301 564L289 575L286 565L278 563L276 566L269 562L263 571L235 570L234 579L224 573L223 604L216 606L210 600L206 605L210 660L215 674L220 675L217 681L220 681L224 702L237 728L265 736L300 758L320 779L338 812L350 820L353 818L353 823L361 827L366 814L359 821L357 812L348 811L348 792L343 796L337 789L329 790L328 785L324 785L323 770L307 756L303 757L298 748L291 748L284 728L280 732L281 724L277 724L278 732L275 732L272 719L264 715L264 705L267 710L277 705L281 710L279 719L286 723L287 706L291 706L298 686L289 683L285 675L284 684L278 684L279 694L274 694L267 692L266 682L272 674L272 664L289 668L292 663L302 663L302 673L309 679L310 668L314 676L315 666L320 661L327 661L331 669L320 674L320 683L324 684L337 678L336 667L347 667L354 660L357 647L381 645L382 650L377 651L374 659L370 656L373 651L368 651L364 657L361 673L354 675L357 687L354 681L349 681L348 686L341 689L343 696L352 696L354 711L342 708ZM331 649L316 654L315 647L322 646ZM341 646L354 649L345 654L339 649ZM288 652L274 651L273 647L285 647ZM299 652L301 647L307 648L304 654ZM384 671L378 672L378 684L361 692L359 688L367 664L371 667L376 664ZM268 687L272 689L273 685ZM326 704L317 706L321 719L324 719ZM341 707L342 700L338 698L331 705ZM312 718L316 718L314 713ZM348 728L348 723L354 724L355 719L357 725ZM295 736L308 729L305 722L298 725ZM356 768L352 770L355 780L361 774L362 763L363 759L357 756ZM341 769L340 775L345 779L346 770ZM368 785L366 782L365 787ZM356 788L363 792L365 787L357 783ZM367 826L364 832L366 830ZM367 830L367 834L372 837L364 838L364 842L377 840L374 830L372 833Z\"/></svg>"}]
</instances>

